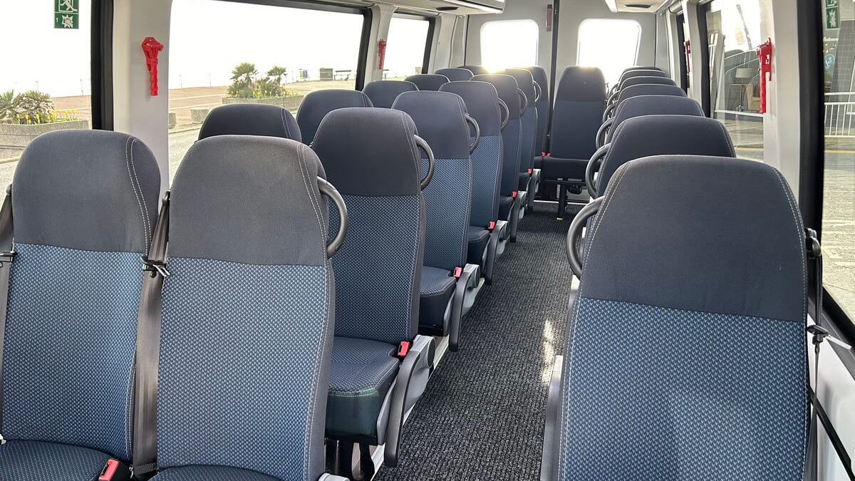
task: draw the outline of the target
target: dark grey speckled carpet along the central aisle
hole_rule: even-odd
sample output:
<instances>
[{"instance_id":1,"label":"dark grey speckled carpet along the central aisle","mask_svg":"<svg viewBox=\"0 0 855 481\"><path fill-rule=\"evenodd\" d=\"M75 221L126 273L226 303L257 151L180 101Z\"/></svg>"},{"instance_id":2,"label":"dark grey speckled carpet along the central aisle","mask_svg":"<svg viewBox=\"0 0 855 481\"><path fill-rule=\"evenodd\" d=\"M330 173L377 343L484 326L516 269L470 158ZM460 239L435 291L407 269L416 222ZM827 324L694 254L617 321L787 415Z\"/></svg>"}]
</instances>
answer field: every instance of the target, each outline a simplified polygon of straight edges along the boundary
<instances>
[{"instance_id":1,"label":"dark grey speckled carpet along the central aisle","mask_svg":"<svg viewBox=\"0 0 855 481\"><path fill-rule=\"evenodd\" d=\"M460 351L445 354L404 426L398 467L375 479L540 478L546 390L562 352L571 276L569 220L558 222L556 211L539 204L523 218L493 285L463 319Z\"/></svg>"}]
</instances>

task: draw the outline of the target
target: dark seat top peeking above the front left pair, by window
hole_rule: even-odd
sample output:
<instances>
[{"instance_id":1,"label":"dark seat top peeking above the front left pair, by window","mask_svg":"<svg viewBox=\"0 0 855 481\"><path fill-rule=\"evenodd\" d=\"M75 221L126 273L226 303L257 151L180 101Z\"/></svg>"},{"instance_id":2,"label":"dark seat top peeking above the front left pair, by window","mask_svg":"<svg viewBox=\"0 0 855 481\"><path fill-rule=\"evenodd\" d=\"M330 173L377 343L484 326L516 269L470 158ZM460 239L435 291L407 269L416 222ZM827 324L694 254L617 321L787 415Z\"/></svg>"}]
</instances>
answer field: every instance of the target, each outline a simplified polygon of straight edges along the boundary
<instances>
[{"instance_id":1,"label":"dark seat top peeking above the front left pair, by window","mask_svg":"<svg viewBox=\"0 0 855 481\"><path fill-rule=\"evenodd\" d=\"M302 141L294 116L279 105L227 104L211 110L199 140L215 135L262 135Z\"/></svg>"}]
</instances>

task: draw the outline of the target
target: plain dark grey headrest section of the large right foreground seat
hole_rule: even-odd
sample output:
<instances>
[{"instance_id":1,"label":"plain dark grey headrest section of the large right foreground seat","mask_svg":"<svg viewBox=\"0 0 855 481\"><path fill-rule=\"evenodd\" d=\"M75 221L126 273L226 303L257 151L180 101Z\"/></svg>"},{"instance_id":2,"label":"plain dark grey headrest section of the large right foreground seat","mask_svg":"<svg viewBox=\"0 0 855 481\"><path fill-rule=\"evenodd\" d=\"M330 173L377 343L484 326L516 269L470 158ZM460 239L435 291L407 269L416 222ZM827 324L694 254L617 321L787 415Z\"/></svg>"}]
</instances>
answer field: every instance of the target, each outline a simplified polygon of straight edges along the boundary
<instances>
[{"instance_id":1,"label":"plain dark grey headrest section of the large right foreground seat","mask_svg":"<svg viewBox=\"0 0 855 481\"><path fill-rule=\"evenodd\" d=\"M618 169L602 205L580 296L805 322L805 231L769 165L646 157Z\"/></svg>"}]
</instances>

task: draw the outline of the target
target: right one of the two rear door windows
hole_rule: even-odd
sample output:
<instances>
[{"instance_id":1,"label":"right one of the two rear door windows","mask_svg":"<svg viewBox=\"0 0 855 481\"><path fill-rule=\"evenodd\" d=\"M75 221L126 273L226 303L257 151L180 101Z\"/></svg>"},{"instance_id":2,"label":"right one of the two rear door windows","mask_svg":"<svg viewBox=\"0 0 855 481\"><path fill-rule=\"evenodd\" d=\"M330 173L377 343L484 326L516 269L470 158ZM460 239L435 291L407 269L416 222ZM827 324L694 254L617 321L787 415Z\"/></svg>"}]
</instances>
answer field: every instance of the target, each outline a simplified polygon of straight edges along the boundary
<instances>
[{"instance_id":1,"label":"right one of the two rear door windows","mask_svg":"<svg viewBox=\"0 0 855 481\"><path fill-rule=\"evenodd\" d=\"M613 85L637 63L641 26L634 20L587 19L579 26L578 64L598 67Z\"/></svg>"}]
</instances>

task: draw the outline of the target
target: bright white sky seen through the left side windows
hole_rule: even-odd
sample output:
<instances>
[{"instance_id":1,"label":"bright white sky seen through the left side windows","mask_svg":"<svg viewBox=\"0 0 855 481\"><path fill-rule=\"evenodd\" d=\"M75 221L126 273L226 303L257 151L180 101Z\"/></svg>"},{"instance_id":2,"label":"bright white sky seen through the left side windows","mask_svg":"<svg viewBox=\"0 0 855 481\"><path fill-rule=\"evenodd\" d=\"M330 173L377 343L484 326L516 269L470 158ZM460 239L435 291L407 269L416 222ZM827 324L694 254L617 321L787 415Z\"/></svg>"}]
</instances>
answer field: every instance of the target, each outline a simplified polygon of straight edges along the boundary
<instances>
[{"instance_id":1,"label":"bright white sky seen through the left side windows","mask_svg":"<svg viewBox=\"0 0 855 481\"><path fill-rule=\"evenodd\" d=\"M37 89L54 97L90 93L91 0L80 29L53 28L53 0L0 0L0 92ZM363 16L217 0L174 0L169 88L225 86L240 62L265 73L286 67L317 79L319 68L356 73ZM395 18L386 47L390 74L422 65L428 22ZM140 53L139 62L144 62Z\"/></svg>"}]
</instances>

